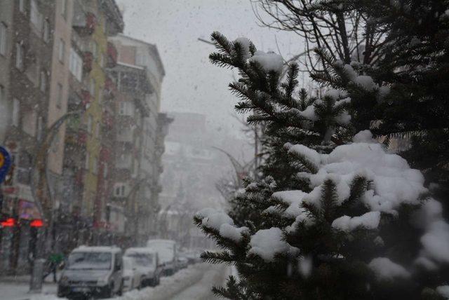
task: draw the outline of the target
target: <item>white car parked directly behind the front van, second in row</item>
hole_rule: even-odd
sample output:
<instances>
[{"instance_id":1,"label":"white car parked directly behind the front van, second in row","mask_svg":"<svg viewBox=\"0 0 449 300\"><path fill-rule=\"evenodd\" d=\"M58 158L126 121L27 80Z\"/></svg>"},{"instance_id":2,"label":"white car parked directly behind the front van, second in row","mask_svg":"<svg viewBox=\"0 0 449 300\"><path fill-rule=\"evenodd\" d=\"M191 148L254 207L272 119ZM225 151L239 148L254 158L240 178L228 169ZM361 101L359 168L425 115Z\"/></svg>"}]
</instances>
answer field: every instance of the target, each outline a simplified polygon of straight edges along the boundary
<instances>
[{"instance_id":1,"label":"white car parked directly behind the front van, second in row","mask_svg":"<svg viewBox=\"0 0 449 300\"><path fill-rule=\"evenodd\" d=\"M142 287L159 285L163 266L159 262L158 253L145 247L128 248L125 257L135 261L135 266L141 274Z\"/></svg>"}]
</instances>

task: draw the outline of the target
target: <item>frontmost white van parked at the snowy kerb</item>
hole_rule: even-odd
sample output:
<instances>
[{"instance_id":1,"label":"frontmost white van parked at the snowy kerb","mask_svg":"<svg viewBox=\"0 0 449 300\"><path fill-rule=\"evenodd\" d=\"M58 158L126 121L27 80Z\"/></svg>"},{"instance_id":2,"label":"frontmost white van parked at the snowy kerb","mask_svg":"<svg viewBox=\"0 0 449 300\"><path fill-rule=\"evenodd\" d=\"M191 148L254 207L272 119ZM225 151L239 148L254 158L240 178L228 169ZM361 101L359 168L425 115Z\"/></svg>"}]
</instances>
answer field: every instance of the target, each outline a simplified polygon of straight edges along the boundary
<instances>
[{"instance_id":1,"label":"frontmost white van parked at the snowy kerb","mask_svg":"<svg viewBox=\"0 0 449 300\"><path fill-rule=\"evenodd\" d=\"M74 249L58 282L58 296L101 296L110 298L122 292L123 261L119 247Z\"/></svg>"}]
</instances>

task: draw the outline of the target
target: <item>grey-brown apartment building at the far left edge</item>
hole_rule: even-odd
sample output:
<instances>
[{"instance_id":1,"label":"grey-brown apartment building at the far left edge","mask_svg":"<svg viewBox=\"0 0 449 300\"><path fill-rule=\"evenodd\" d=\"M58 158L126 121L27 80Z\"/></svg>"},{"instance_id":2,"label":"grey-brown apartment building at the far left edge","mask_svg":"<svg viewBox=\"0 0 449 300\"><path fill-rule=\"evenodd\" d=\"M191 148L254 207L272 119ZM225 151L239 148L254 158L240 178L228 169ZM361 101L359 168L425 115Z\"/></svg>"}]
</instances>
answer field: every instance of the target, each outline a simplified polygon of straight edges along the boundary
<instances>
[{"instance_id":1,"label":"grey-brown apartment building at the far left edge","mask_svg":"<svg viewBox=\"0 0 449 300\"><path fill-rule=\"evenodd\" d=\"M0 58L6 123L3 144L13 156L13 170L4 184L1 212L20 226L1 231L1 263L12 273L28 268L29 221L41 217L32 195L33 155L48 126L55 6L51 1L1 1Z\"/></svg>"}]
</instances>

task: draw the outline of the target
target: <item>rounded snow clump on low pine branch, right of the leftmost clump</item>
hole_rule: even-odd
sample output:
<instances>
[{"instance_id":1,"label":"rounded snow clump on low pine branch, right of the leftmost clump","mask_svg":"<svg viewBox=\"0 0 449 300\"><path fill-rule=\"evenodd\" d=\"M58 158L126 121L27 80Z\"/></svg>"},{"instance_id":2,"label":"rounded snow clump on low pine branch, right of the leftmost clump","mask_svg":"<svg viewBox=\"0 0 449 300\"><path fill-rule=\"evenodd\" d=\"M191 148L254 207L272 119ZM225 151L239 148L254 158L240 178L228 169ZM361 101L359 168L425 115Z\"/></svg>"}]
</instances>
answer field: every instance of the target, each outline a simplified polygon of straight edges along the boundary
<instances>
[{"instance_id":1,"label":"rounded snow clump on low pine branch, right of the leftmost clump","mask_svg":"<svg viewBox=\"0 0 449 300\"><path fill-rule=\"evenodd\" d=\"M257 254L266 261L274 261L274 256L277 253L297 253L299 251L282 239L282 231L277 227L257 231L251 237L250 246L248 254Z\"/></svg>"}]
</instances>

